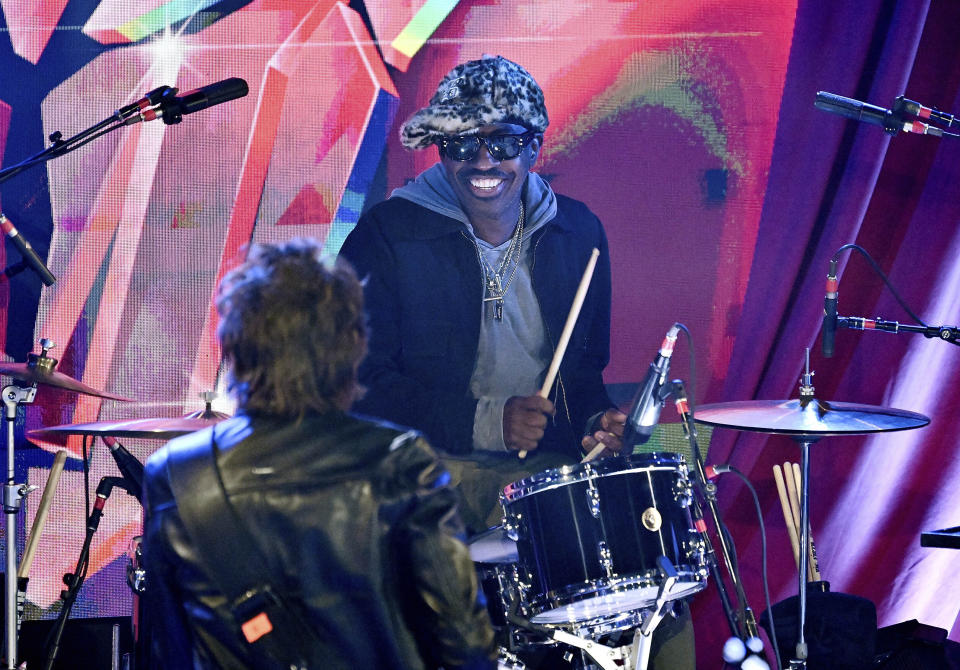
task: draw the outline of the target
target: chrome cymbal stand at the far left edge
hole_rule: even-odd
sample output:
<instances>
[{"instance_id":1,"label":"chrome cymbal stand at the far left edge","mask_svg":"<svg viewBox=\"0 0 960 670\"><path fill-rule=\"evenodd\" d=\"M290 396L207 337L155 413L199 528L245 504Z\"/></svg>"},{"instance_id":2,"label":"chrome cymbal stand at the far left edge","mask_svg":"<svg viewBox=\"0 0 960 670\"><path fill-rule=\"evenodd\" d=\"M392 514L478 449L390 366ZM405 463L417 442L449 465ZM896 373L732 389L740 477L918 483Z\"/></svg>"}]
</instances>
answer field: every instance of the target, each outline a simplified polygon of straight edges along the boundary
<instances>
[{"instance_id":1,"label":"chrome cymbal stand at the far left edge","mask_svg":"<svg viewBox=\"0 0 960 670\"><path fill-rule=\"evenodd\" d=\"M6 532L3 579L6 590L4 594L3 630L7 670L15 670L17 667L17 632L19 628L17 617L17 514L20 512L20 501L35 488L26 484L17 484L15 481L16 459L13 428L20 405L32 403L36 394L36 384L23 387L14 383L3 388L4 420L7 427L7 479L3 487L4 530Z\"/></svg>"}]
</instances>

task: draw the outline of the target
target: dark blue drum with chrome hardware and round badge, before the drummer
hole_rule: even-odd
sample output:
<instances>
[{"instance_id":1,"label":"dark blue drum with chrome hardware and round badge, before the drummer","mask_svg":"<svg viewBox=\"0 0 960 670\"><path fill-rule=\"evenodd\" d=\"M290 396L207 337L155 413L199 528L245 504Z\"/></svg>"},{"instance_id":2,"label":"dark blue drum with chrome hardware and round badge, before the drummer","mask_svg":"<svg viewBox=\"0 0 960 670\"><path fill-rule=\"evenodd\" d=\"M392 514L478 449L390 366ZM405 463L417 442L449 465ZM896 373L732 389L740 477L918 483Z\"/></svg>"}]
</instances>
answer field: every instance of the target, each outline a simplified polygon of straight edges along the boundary
<instances>
[{"instance_id":1,"label":"dark blue drum with chrome hardware and round badge, before the drummer","mask_svg":"<svg viewBox=\"0 0 960 670\"><path fill-rule=\"evenodd\" d=\"M679 454L651 453L547 470L508 485L504 528L516 539L521 604L534 623L603 621L653 605L666 556L668 599L706 586L703 543Z\"/></svg>"}]
</instances>

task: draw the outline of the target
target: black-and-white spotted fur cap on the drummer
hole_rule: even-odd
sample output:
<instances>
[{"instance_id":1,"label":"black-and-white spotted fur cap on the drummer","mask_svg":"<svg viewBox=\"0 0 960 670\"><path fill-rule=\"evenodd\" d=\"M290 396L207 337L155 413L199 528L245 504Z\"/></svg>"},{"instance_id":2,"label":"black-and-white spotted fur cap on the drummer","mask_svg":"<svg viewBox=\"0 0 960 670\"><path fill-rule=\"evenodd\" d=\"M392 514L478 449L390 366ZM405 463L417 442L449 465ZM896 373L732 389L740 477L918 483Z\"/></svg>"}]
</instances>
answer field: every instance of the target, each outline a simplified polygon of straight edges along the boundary
<instances>
[{"instance_id":1,"label":"black-and-white spotted fur cap on the drummer","mask_svg":"<svg viewBox=\"0 0 960 670\"><path fill-rule=\"evenodd\" d=\"M443 135L491 123L514 123L542 133L550 121L543 91L530 73L503 56L483 56L453 68L430 104L407 119L400 142L425 149Z\"/></svg>"}]
</instances>

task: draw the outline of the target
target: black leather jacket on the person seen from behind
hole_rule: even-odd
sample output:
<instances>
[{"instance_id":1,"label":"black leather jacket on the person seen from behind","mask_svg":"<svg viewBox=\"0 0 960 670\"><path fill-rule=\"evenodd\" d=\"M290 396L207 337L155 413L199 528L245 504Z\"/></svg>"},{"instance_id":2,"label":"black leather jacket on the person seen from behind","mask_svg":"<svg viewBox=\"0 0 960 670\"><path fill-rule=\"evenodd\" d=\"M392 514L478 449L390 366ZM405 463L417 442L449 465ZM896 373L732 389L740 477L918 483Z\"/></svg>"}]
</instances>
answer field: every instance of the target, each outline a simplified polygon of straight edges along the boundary
<instances>
[{"instance_id":1,"label":"black leather jacket on the person seen from behind","mask_svg":"<svg viewBox=\"0 0 960 670\"><path fill-rule=\"evenodd\" d=\"M310 668L494 667L473 564L454 537L456 498L418 434L339 412L297 422L239 415L212 431L147 462L142 606L153 667L264 667L205 574L171 492L170 451L211 439L231 503L282 575L273 586L322 640Z\"/></svg>"}]
</instances>

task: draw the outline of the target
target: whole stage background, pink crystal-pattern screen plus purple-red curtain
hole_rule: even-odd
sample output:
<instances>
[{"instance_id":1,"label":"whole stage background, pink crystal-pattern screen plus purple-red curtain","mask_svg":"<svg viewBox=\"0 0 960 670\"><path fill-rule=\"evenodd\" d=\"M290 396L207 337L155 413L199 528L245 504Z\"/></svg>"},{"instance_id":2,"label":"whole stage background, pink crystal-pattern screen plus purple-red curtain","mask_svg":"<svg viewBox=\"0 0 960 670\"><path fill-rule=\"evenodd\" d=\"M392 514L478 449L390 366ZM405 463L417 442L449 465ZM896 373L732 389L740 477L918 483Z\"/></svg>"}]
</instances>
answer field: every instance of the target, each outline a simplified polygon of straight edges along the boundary
<instances>
[{"instance_id":1,"label":"whole stage background, pink crystal-pattern screen plus purple-red curtain","mask_svg":"<svg viewBox=\"0 0 960 670\"><path fill-rule=\"evenodd\" d=\"M365 207L436 160L432 150L404 150L399 124L451 67L484 53L523 64L540 82L551 124L537 169L606 225L609 383L639 379L681 321L697 374L686 342L673 374L699 402L795 397L804 347L820 326L827 261L845 242L868 247L927 320L958 321L960 143L910 136L895 146L878 128L813 108L826 89L884 105L905 92L960 110L950 4L0 0L4 167L42 150L52 133L70 137L162 85L183 92L242 77L250 89L179 125L107 134L0 187L4 213L58 278L41 288L26 271L0 284L7 360L25 360L47 337L59 370L133 399L42 387L21 411L18 481L42 486L53 452L71 454L31 575L29 615L54 615L83 537L84 493L80 441L35 444L24 433L179 416L201 409L204 391L222 392L218 280L251 242L310 235L335 254ZM6 253L19 260L12 247ZM841 313L903 320L864 267L857 260L842 275ZM847 332L837 348L829 361L814 353L820 397L934 421L815 447L825 577L876 602L882 625L918 618L950 629L960 586L946 575L958 557L921 549L919 533L960 523L948 391L960 352ZM214 408L232 409L222 394ZM711 460L731 460L760 489L774 598L786 597L794 577L769 466L796 460L796 449L724 430L714 442ZM126 446L142 460L160 444ZM116 474L99 440L87 463L93 485ZM721 481L721 494L759 611L752 505L736 482ZM23 528L38 502L27 499ZM139 505L115 493L76 615L130 612L125 552L139 532ZM726 631L712 589L695 606L701 658L719 662Z\"/></svg>"}]
</instances>

